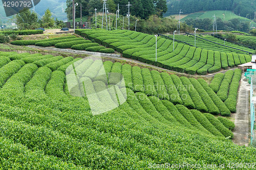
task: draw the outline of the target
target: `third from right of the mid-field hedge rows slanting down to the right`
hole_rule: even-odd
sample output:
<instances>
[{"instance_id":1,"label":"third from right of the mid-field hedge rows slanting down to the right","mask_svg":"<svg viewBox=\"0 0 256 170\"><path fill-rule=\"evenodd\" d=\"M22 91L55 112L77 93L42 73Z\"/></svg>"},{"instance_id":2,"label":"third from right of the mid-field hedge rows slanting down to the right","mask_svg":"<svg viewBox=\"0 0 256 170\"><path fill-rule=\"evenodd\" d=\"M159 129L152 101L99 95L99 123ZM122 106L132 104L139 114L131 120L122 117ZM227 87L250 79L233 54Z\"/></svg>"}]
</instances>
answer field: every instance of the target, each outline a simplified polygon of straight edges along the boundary
<instances>
[{"instance_id":1,"label":"third from right of the mid-field hedge rows slanting down to the right","mask_svg":"<svg viewBox=\"0 0 256 170\"><path fill-rule=\"evenodd\" d=\"M193 103L195 104L196 109L201 112L208 112L208 109L204 105L204 102L202 101L199 93L194 88L192 83L188 80L188 78L180 77L180 80L181 80L183 86L186 87L187 92L190 95L190 98L192 99Z\"/></svg>"}]
</instances>

